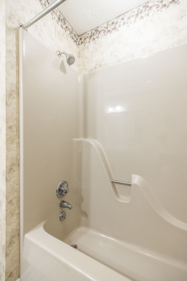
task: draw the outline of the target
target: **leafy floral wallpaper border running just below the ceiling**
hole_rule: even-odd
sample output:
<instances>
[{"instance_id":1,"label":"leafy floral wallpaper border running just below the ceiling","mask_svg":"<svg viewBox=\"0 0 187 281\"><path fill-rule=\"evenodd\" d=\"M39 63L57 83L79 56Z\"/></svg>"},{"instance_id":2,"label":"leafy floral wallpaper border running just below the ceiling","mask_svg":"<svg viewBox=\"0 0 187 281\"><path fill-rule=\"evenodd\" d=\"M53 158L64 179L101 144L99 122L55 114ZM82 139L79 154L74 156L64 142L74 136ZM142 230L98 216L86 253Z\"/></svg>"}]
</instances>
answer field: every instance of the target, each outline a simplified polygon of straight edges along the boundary
<instances>
[{"instance_id":1,"label":"leafy floral wallpaper border running just below the ceiling","mask_svg":"<svg viewBox=\"0 0 187 281\"><path fill-rule=\"evenodd\" d=\"M46 8L51 4L49 0L39 0L39 2L43 8ZM77 45L84 44L85 46L85 44L95 41L98 38L118 31L119 28L124 25L129 26L129 24L134 23L137 20L142 20L143 18L151 16L154 13L159 11L162 12L162 10L169 8L169 6L179 4L180 0L152 0L79 36L67 22L66 18L58 11L58 9L53 10L51 14L52 19L56 20L57 24L61 26L61 28Z\"/></svg>"}]
</instances>

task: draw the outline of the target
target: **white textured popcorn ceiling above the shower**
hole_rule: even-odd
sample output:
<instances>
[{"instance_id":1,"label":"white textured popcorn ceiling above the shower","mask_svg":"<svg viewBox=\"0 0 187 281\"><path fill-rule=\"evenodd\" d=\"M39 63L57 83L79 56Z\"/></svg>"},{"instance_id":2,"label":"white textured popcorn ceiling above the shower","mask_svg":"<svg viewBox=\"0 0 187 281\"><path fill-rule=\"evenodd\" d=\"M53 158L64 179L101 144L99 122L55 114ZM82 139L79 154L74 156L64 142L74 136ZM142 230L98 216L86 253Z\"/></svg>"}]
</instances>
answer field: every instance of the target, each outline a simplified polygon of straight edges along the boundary
<instances>
[{"instance_id":1,"label":"white textured popcorn ceiling above the shower","mask_svg":"<svg viewBox=\"0 0 187 281\"><path fill-rule=\"evenodd\" d=\"M146 2L148 0L66 0L58 9L77 35L81 35Z\"/></svg>"}]
</instances>

